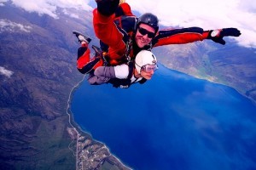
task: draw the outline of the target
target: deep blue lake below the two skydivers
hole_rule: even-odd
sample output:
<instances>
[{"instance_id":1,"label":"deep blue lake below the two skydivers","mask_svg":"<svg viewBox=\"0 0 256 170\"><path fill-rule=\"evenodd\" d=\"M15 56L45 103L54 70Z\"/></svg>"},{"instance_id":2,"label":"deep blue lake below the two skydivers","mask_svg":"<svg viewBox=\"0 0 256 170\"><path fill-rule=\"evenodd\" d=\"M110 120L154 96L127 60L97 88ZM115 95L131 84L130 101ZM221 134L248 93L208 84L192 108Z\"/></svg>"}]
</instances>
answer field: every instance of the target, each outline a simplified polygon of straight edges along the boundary
<instances>
[{"instance_id":1,"label":"deep blue lake below the two skydivers","mask_svg":"<svg viewBox=\"0 0 256 170\"><path fill-rule=\"evenodd\" d=\"M131 88L84 81L74 121L138 170L256 169L256 106L233 88L160 65Z\"/></svg>"}]
</instances>

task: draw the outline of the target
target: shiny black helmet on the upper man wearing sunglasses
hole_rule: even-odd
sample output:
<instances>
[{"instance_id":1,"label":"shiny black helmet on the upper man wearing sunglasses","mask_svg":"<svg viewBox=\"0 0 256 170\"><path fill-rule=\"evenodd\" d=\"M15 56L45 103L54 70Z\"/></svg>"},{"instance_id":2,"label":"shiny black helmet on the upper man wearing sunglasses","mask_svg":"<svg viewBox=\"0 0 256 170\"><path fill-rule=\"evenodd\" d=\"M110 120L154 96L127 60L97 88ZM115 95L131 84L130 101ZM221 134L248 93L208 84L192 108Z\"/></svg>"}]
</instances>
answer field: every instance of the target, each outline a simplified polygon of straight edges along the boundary
<instances>
[{"instance_id":1,"label":"shiny black helmet on the upper man wearing sunglasses","mask_svg":"<svg viewBox=\"0 0 256 170\"><path fill-rule=\"evenodd\" d=\"M141 15L137 19L137 26L139 26L142 23L146 24L148 26L152 26L154 28L155 32L157 32L159 29L158 18L154 14L145 13L145 14Z\"/></svg>"}]
</instances>

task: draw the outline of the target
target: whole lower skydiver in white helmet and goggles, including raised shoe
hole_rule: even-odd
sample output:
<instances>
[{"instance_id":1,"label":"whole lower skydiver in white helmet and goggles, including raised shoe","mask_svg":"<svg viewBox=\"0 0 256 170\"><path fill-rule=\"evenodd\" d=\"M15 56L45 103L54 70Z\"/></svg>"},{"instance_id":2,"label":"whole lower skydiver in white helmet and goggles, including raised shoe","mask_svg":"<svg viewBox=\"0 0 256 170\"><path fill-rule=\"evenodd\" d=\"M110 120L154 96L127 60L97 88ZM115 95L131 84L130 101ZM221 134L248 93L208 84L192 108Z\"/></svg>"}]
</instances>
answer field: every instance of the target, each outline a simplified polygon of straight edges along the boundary
<instances>
[{"instance_id":1,"label":"whole lower skydiver in white helmet and goggles, including raised shoe","mask_svg":"<svg viewBox=\"0 0 256 170\"><path fill-rule=\"evenodd\" d=\"M86 37L76 31L74 33L79 38L79 42L81 42L81 47L78 50L79 60L81 57L84 57L84 51L90 53L90 48L88 48L90 37ZM88 82L91 85L111 83L115 88L129 88L133 83L144 83L150 80L154 75L154 71L158 69L156 57L148 50L140 51L136 59L128 63L122 65L100 65L96 69L92 69L92 66L96 65L98 60L103 57L100 48L96 46L92 46L92 48L96 51L96 54L94 59L89 62L90 64L87 64L91 66L79 70L82 73L86 72L89 74ZM89 59L87 55L86 57ZM86 70L87 68L90 68L90 70Z\"/></svg>"}]
</instances>

